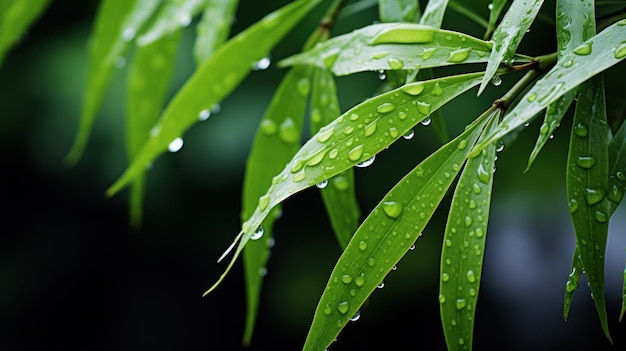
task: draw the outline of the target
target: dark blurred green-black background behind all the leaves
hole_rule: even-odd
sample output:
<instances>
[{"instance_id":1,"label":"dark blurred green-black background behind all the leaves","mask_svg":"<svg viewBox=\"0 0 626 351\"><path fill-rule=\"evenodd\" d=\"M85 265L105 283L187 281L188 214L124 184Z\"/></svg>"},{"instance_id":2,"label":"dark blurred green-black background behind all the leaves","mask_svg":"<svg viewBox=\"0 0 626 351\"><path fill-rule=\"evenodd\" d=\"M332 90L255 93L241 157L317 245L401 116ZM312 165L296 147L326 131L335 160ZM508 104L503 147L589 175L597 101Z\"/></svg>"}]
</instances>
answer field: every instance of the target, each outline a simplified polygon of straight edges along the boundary
<instances>
[{"instance_id":1,"label":"dark blurred green-black background behind all the leaves","mask_svg":"<svg viewBox=\"0 0 626 351\"><path fill-rule=\"evenodd\" d=\"M232 33L287 2L240 1ZM137 233L128 227L127 192L104 197L126 165L125 68L113 77L85 155L74 167L63 163L77 130L97 5L96 0L53 1L0 67L0 349L241 349L241 263L213 294L201 294L222 272L216 259L239 230L246 156L285 74L275 62L301 49L323 8L272 52L267 70L253 72L221 103L219 113L191 128L179 152L155 162L148 175L143 228ZM488 14L487 1L467 6ZM555 48L549 20L553 1L542 12L544 20L522 41L519 51L524 54ZM332 33L370 24L377 16L376 7L370 7L341 18ZM443 28L483 34L452 10ZM184 32L171 94L193 72L194 32L193 25ZM624 71L618 65L607 75L626 77ZM451 136L515 81L502 78L501 86L488 88L480 98L471 90L443 108ZM336 81L342 110L380 85L375 72ZM623 113L623 89L608 86L607 99L609 113ZM527 173L523 170L540 118L499 154L476 315L478 350L580 350L589 345L617 350L626 345L626 329L616 323L626 246L624 206L613 216L607 246L606 290L615 345L609 347L603 336L584 281L570 320L562 319L574 247L564 184L569 121L564 119ZM357 169L363 214L439 145L432 129L420 127L412 140L399 141L372 166ZM361 319L344 330L334 350L445 349L437 295L446 214L435 214L416 249L372 295ZM315 189L286 201L275 236L251 350L302 346L340 253Z\"/></svg>"}]
</instances>

